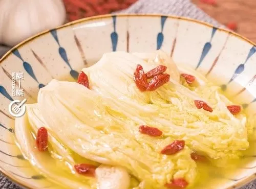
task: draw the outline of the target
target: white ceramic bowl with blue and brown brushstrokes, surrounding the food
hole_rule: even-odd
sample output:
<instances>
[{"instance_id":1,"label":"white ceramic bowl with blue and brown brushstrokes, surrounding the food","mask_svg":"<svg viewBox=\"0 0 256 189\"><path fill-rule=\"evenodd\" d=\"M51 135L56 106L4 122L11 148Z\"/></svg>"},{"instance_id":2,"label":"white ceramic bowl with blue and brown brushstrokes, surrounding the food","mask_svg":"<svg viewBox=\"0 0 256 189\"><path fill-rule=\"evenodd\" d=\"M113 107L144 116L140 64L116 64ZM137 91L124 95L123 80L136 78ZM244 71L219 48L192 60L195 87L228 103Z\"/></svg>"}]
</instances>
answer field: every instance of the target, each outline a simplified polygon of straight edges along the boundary
<instances>
[{"instance_id":1,"label":"white ceramic bowl with blue and brown brushstrokes, surrounding the food","mask_svg":"<svg viewBox=\"0 0 256 189\"><path fill-rule=\"evenodd\" d=\"M256 46L246 38L197 20L169 15L103 15L39 33L12 48L0 62L0 169L30 188L51 188L15 145L14 100L36 102L53 78L76 81L81 68L112 51L162 49L215 81L249 114L256 112ZM15 89L16 88L16 89ZM256 152L244 156L231 177L218 175L212 188L238 188L256 176ZM53 188L53 187L52 187Z\"/></svg>"}]
</instances>

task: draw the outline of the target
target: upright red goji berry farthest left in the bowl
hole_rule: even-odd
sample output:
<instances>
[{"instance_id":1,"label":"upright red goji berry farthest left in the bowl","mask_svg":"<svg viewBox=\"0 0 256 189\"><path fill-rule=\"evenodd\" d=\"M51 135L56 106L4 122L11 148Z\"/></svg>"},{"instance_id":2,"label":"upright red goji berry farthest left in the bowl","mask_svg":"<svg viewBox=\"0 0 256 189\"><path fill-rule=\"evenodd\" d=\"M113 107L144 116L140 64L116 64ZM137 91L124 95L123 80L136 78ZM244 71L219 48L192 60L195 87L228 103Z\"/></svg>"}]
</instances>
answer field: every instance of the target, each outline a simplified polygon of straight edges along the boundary
<instances>
[{"instance_id":1,"label":"upright red goji berry farthest left in the bowl","mask_svg":"<svg viewBox=\"0 0 256 189\"><path fill-rule=\"evenodd\" d=\"M36 147L40 152L45 151L48 147L48 132L45 127L41 127L37 130Z\"/></svg>"}]
</instances>

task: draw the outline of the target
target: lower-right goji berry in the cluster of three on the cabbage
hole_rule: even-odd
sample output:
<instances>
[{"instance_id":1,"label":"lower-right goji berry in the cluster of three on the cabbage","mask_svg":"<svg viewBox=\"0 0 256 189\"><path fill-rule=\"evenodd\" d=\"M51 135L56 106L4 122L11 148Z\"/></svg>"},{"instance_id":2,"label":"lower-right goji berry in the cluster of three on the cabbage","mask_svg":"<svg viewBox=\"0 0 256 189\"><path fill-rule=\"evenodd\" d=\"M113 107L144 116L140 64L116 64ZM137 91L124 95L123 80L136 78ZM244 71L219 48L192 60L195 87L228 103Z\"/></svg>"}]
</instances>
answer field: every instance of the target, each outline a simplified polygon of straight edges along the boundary
<instances>
[{"instance_id":1,"label":"lower-right goji berry in the cluster of three on the cabbage","mask_svg":"<svg viewBox=\"0 0 256 189\"><path fill-rule=\"evenodd\" d=\"M157 76L154 76L154 78L148 83L146 90L156 90L157 88L167 83L169 79L169 74L159 74Z\"/></svg>"}]
</instances>

